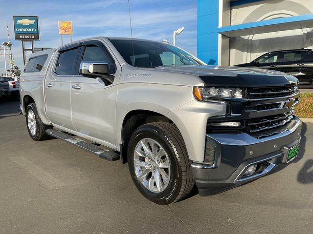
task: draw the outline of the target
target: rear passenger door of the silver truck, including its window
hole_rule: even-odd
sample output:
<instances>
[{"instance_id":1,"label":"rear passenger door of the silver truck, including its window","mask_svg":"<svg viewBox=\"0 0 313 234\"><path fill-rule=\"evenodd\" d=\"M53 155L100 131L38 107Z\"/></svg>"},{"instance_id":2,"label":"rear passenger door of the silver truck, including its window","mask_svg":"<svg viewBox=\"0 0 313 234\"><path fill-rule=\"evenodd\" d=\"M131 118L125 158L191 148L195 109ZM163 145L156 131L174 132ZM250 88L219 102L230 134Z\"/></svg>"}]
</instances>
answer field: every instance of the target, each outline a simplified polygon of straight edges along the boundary
<instances>
[{"instance_id":1,"label":"rear passenger door of the silver truck, including its window","mask_svg":"<svg viewBox=\"0 0 313 234\"><path fill-rule=\"evenodd\" d=\"M80 44L58 51L57 59L45 78L46 114L54 125L75 130L71 119L70 81L78 75L76 65Z\"/></svg>"}]
</instances>

